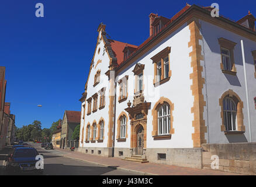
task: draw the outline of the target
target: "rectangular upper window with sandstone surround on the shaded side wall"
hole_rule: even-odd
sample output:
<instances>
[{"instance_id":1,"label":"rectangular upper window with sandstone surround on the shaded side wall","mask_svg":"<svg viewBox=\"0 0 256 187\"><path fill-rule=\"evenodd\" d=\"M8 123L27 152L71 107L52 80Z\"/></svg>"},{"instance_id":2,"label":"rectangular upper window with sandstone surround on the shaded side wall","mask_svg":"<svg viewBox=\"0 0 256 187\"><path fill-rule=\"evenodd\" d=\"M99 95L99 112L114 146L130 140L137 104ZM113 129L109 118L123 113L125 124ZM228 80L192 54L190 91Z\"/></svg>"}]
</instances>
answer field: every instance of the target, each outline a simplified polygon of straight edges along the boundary
<instances>
[{"instance_id":1,"label":"rectangular upper window with sandstone surround on the shaded side wall","mask_svg":"<svg viewBox=\"0 0 256 187\"><path fill-rule=\"evenodd\" d=\"M234 47L237 43L220 37L220 69L225 74L236 75L237 70L234 62Z\"/></svg>"}]
</instances>

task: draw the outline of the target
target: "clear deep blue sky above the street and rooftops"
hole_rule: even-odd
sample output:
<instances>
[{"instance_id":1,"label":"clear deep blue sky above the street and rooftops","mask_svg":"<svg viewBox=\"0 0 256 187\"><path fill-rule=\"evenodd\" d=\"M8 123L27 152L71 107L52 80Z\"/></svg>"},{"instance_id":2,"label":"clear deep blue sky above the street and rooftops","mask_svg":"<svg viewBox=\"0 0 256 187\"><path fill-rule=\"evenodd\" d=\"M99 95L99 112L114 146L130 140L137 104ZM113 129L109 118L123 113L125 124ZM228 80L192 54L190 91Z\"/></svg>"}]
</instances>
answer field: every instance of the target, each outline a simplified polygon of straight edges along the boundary
<instances>
[{"instance_id":1,"label":"clear deep blue sky above the street and rooftops","mask_svg":"<svg viewBox=\"0 0 256 187\"><path fill-rule=\"evenodd\" d=\"M44 18L35 5L44 5ZM81 93L94 54L96 29L106 24L112 39L139 46L149 36L151 12L171 18L189 4L210 6L238 20L256 1L84 1L1 0L0 65L6 67L6 102L16 126L40 120L42 127L62 119L64 110L81 110ZM37 105L43 105L39 108Z\"/></svg>"}]
</instances>

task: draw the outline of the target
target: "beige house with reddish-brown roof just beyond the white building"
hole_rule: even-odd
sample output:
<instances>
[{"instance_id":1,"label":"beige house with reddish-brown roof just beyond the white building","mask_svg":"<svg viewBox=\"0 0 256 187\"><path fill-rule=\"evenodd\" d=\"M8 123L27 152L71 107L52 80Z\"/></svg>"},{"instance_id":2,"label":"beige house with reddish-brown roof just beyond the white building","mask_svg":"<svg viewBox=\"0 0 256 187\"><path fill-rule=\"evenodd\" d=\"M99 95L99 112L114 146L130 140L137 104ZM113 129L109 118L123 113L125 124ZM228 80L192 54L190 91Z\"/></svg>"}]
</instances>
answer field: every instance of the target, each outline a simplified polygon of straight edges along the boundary
<instances>
[{"instance_id":1,"label":"beige house with reddish-brown roof just beyond the white building","mask_svg":"<svg viewBox=\"0 0 256 187\"><path fill-rule=\"evenodd\" d=\"M66 149L68 141L72 140L75 127L80 124L81 112L65 110L61 124L60 148Z\"/></svg>"}]
</instances>

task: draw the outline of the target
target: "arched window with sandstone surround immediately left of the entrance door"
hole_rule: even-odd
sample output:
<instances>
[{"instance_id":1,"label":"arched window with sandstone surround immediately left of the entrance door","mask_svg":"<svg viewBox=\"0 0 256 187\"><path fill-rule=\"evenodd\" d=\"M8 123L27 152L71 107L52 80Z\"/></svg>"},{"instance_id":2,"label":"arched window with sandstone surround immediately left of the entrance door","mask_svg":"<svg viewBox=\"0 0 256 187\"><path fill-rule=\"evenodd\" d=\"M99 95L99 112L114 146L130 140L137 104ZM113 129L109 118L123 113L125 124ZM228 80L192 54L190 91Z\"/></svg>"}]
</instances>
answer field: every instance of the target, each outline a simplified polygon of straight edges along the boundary
<instances>
[{"instance_id":1,"label":"arched window with sandstone surround immediately left of the entrance door","mask_svg":"<svg viewBox=\"0 0 256 187\"><path fill-rule=\"evenodd\" d=\"M120 113L117 117L117 141L126 141L127 134L128 116L125 112Z\"/></svg>"}]
</instances>

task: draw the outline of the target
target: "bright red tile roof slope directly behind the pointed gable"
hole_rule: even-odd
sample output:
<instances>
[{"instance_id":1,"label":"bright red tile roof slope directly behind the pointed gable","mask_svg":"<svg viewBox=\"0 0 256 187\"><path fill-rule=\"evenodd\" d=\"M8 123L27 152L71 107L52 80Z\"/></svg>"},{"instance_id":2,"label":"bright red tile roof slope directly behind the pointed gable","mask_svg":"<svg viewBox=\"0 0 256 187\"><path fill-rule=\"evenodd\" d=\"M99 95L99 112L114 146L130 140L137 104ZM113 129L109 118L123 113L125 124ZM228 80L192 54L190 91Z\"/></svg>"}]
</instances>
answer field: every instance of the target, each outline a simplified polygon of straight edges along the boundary
<instances>
[{"instance_id":1,"label":"bright red tile roof slope directly behind the pointed gable","mask_svg":"<svg viewBox=\"0 0 256 187\"><path fill-rule=\"evenodd\" d=\"M129 44L129 43L123 43L121 41L116 41L116 40L111 40L111 39L108 39L108 41L110 42L113 53L115 54L115 56L117 58L117 64L118 65L121 64L122 61L123 61L124 47L129 46L129 47L133 47L133 48L136 48L136 49L138 47L138 46L134 46L134 45Z\"/></svg>"}]
</instances>

